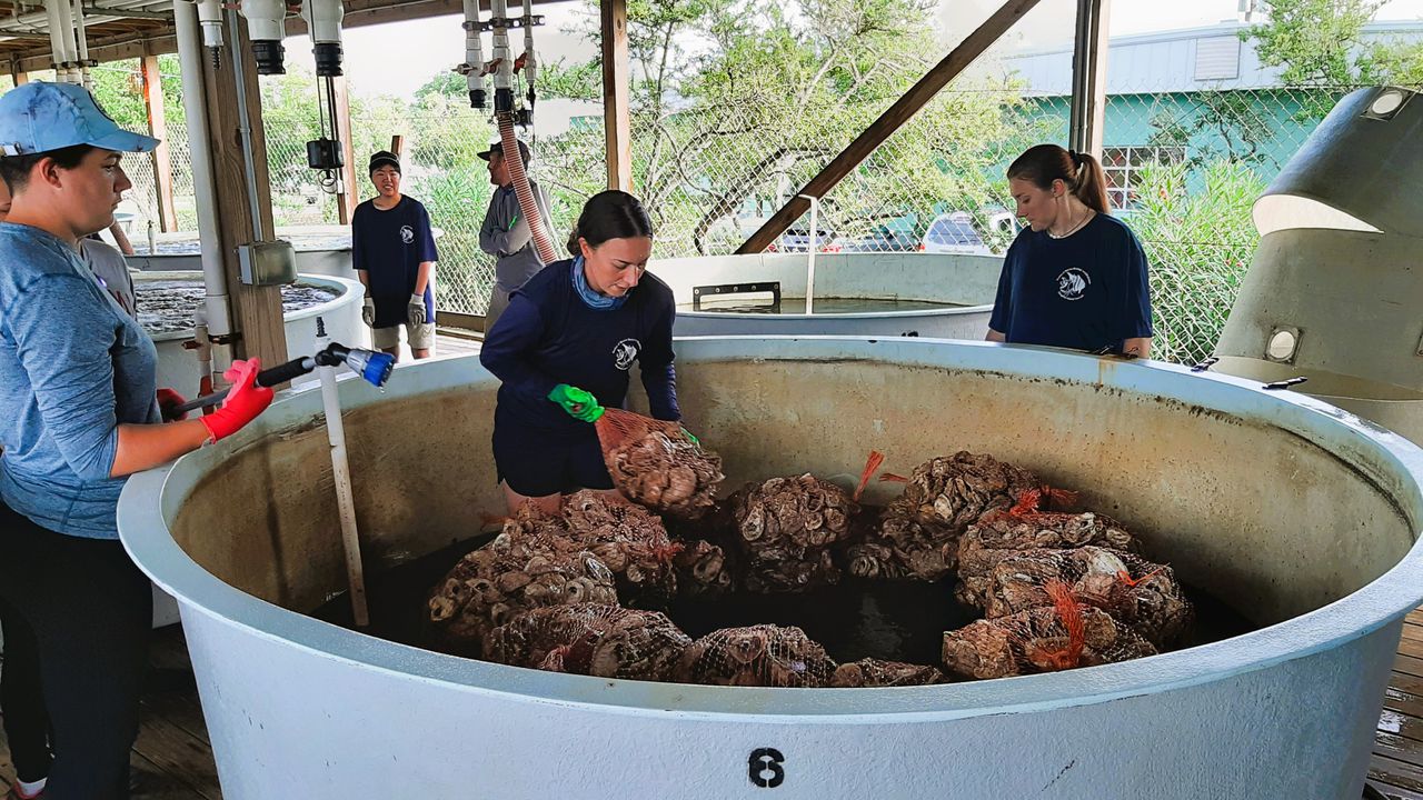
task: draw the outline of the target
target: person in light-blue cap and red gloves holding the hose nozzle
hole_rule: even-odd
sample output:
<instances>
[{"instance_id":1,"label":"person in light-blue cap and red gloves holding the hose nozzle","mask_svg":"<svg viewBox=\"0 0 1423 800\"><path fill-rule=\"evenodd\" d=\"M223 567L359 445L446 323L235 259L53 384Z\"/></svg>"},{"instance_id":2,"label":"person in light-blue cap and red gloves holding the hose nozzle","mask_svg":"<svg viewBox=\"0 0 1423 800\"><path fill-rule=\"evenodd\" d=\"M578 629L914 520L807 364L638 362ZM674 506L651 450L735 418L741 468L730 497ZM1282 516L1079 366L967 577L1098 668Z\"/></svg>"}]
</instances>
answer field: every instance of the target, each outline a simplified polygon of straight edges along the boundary
<instances>
[{"instance_id":1,"label":"person in light-blue cap and red gloves holding the hose nozzle","mask_svg":"<svg viewBox=\"0 0 1423 800\"><path fill-rule=\"evenodd\" d=\"M114 221L120 161L157 140L121 130L73 84L0 97L0 599L33 636L53 730L44 797L128 796L152 596L118 542L132 473L231 436L272 401L256 360L199 420L161 423L157 353L88 275L78 239ZM18 796L30 796L20 787Z\"/></svg>"}]
</instances>

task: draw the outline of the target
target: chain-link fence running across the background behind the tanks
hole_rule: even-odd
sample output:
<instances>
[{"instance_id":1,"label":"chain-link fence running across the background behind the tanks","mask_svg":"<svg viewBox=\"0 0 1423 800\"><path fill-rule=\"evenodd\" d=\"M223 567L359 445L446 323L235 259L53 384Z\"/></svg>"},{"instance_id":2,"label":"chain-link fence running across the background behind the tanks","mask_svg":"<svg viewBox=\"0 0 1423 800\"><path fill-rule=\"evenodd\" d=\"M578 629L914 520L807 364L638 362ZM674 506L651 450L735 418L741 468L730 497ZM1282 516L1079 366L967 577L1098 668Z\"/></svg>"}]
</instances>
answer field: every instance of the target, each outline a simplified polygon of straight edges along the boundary
<instances>
[{"instance_id":1,"label":"chain-link fence running across the background behind the tanks","mask_svg":"<svg viewBox=\"0 0 1423 800\"><path fill-rule=\"evenodd\" d=\"M1104 127L1113 214L1137 232L1151 265L1154 354L1180 362L1214 349L1258 243L1251 205L1322 111L1348 91L1271 85L1258 65L1249 73L1237 64L1235 78L1221 78L1229 64L1207 56L1210 47L1228 50L1220 47L1222 37L1197 38L1194 60L1181 64L1171 61L1181 60L1171 47L1161 50L1163 68L1138 68L1140 58L1114 63ZM1237 36L1228 38L1244 47ZM1006 78L951 84L822 198L814 246L1002 252L1016 229L1003 168L1026 147L1067 135L1064 71L1053 67L1060 57L1002 58L1002 68L980 75ZM734 251L887 105L767 98L635 112L633 179L653 215L655 255ZM534 138L531 168L552 198L556 242L582 202L605 185L601 105L561 114L554 125L541 122L558 132ZM488 118L460 97L427 97L391 112L357 114L351 122L357 164L390 135L406 137L406 191L427 205L441 231L438 305L482 313L492 260L480 251L478 229L491 186L477 152L495 138ZM269 114L266 138L276 223L334 223L334 198L306 168L312 120ZM191 229L181 112L168 117L168 141L179 223ZM152 162L135 164L131 177L139 218L154 218ZM364 181L353 191L371 194ZM773 249L804 252L811 246L807 226L803 218Z\"/></svg>"}]
</instances>

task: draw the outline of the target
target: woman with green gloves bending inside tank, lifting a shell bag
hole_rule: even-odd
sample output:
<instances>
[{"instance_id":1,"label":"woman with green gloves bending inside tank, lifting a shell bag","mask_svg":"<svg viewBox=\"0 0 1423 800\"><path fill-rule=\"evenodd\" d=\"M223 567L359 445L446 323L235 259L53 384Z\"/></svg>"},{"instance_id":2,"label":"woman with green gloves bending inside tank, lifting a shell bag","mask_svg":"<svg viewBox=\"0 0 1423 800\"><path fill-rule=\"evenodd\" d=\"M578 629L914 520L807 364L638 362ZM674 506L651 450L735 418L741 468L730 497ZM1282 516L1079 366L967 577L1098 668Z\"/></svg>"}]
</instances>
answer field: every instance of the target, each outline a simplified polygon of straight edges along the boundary
<instances>
[{"instance_id":1,"label":"woman with green gloves bending inside tank, lifting a shell bag","mask_svg":"<svg viewBox=\"0 0 1423 800\"><path fill-rule=\"evenodd\" d=\"M568 239L573 258L514 290L480 350L504 381L494 409L494 463L509 514L525 501L558 511L579 488L620 497L603 465L579 389L620 409L638 362L652 416L677 421L672 289L647 275L652 221L638 198L588 199Z\"/></svg>"}]
</instances>

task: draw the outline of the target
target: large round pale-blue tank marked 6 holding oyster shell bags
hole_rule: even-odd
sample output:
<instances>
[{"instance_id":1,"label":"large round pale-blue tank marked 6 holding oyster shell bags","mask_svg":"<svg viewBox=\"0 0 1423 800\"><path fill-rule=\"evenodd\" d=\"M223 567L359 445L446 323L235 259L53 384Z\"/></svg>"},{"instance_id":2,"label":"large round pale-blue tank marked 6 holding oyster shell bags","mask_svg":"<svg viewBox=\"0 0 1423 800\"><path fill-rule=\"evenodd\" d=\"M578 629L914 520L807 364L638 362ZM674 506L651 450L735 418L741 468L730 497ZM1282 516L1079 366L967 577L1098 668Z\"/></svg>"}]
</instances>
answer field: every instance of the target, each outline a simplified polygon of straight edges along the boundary
<instances>
[{"instance_id":1,"label":"large round pale-blue tank marked 6 holding oyster shell bags","mask_svg":"<svg viewBox=\"0 0 1423 800\"><path fill-rule=\"evenodd\" d=\"M120 530L179 598L223 796L1358 797L1423 595L1423 451L1321 401L1157 363L924 339L680 340L727 485L959 448L1081 488L1259 629L1141 660L904 689L546 673L303 614L343 589L317 393L129 480ZM342 383L367 572L502 498L472 357ZM872 484L871 501L888 497ZM280 787L280 789L277 789Z\"/></svg>"}]
</instances>

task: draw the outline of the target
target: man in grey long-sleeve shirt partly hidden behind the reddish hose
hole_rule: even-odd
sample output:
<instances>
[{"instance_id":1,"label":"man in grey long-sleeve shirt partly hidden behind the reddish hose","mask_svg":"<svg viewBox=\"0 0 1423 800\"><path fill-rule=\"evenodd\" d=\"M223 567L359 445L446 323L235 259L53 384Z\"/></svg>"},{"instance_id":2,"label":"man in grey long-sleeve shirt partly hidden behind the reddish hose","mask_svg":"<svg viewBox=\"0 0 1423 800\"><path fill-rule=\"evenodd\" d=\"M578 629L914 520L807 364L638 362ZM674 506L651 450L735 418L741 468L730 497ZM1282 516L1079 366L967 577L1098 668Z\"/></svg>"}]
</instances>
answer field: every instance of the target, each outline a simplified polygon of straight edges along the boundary
<instances>
[{"instance_id":1,"label":"man in grey long-sleeve shirt partly hidden behind the reddish hose","mask_svg":"<svg viewBox=\"0 0 1423 800\"><path fill-rule=\"evenodd\" d=\"M528 169L531 157L529 148L524 142L519 142L519 157L524 159L524 168ZM494 196L490 198L490 211L484 215L484 225L480 226L480 249L495 259L490 310L484 315L484 330L488 333L494 327L494 320L499 319L504 309L509 306L509 292L544 269L544 262L539 260L538 249L534 246L528 219L519 211L519 198L514 192L514 178L509 177L509 165L504 161L504 142L495 142L490 149L481 152L480 158L490 162L490 182L497 186ZM548 195L532 179L529 188L534 189L534 202L538 204L539 215L544 218L544 229L552 239Z\"/></svg>"}]
</instances>

